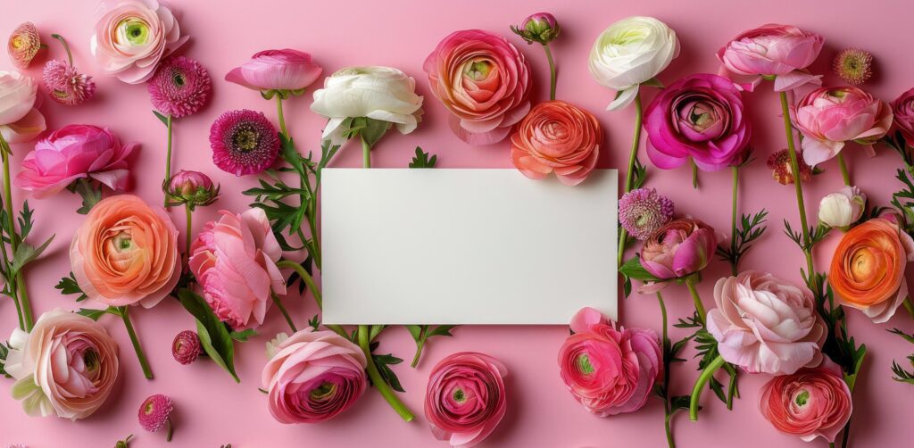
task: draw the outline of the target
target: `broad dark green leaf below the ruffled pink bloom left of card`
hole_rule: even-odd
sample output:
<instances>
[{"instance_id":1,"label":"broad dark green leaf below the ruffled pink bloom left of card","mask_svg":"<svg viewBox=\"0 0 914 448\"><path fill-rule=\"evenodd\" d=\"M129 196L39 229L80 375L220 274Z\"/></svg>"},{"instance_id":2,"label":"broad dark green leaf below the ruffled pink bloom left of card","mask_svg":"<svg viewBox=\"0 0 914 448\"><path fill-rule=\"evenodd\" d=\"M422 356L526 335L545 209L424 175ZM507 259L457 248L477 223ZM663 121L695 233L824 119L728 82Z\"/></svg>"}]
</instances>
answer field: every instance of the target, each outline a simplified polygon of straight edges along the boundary
<instances>
[{"instance_id":1,"label":"broad dark green leaf below the ruffled pink bloom left of card","mask_svg":"<svg viewBox=\"0 0 914 448\"><path fill-rule=\"evenodd\" d=\"M197 293L182 289L177 296L187 312L197 319L197 336L200 336L200 345L207 356L225 369L235 382L241 382L235 372L235 346L226 325L219 321L203 297Z\"/></svg>"}]
</instances>

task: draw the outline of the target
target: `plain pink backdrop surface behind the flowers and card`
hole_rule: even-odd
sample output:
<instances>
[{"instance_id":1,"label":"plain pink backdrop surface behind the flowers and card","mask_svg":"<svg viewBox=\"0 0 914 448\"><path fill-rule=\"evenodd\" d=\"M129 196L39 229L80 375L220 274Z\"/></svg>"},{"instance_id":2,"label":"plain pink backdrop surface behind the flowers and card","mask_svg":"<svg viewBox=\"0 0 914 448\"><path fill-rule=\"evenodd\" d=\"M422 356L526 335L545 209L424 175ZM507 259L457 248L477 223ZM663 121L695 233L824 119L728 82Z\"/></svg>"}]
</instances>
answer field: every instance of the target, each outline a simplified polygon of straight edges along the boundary
<instances>
[{"instance_id":1,"label":"plain pink backdrop surface behind the flowers and card","mask_svg":"<svg viewBox=\"0 0 914 448\"><path fill-rule=\"evenodd\" d=\"M133 160L135 192L148 200L161 198L159 182L165 159L165 128L150 112L144 86L122 84L106 78L93 65L89 54L94 2L71 0L5 1L0 16L0 36L6 37L17 24L32 21L48 40L51 33L69 39L76 65L95 75L99 90L87 104L66 108L44 101L42 112L48 126L58 128L68 123L91 123L110 126L123 140L143 144ZM263 101L254 91L230 85L222 77L228 69L265 48L298 48L312 53L316 62L330 73L348 65L389 65L405 70L419 82L418 90L425 95L425 120L417 132L407 136L390 134L377 145L374 162L377 166L407 165L415 147L421 145L439 155L442 167L510 167L507 144L472 147L462 144L448 130L447 112L429 92L421 65L426 55L441 37L462 28L482 28L508 37L521 48L534 68L535 97L547 94L547 63L541 48L527 47L519 37L511 36L508 26L526 15L550 11L563 26L562 36L554 46L558 61L558 98L571 101L597 114L607 134L607 143L600 151L600 167L624 165L632 134L632 110L605 112L613 92L602 88L590 78L587 57L590 45L600 31L625 16L655 16L676 30L682 53L660 79L670 83L697 71L717 71L714 54L722 44L740 31L767 22L794 24L821 33L825 48L813 66L817 73L828 73L830 60L841 48L856 46L871 51L877 59L877 74L866 85L881 98L891 100L911 86L910 73L914 59L905 43L909 43L909 17L914 12L904 0L867 3L859 0L798 2L770 0L738 5L723 0L673 2L643 0L639 2L571 2L519 1L441 2L441 1L355 1L299 2L270 0L258 2L175 2L181 27L191 36L182 53L199 59L214 77L213 101L200 113L177 121L175 127L175 166L208 173L222 184L223 197L216 207L197 212L195 229L215 216L218 208L239 211L248 199L241 197L242 189L254 185L254 177L236 178L220 172L210 162L207 135L210 123L219 113L229 109L250 108L266 112L275 118L272 102ZM686 5L687 4L687 5ZM63 58L56 42L50 44L49 56ZM11 65L0 57L0 67ZM34 64L27 73L40 76L41 64ZM826 74L826 82L835 82ZM797 222L792 187L782 187L771 179L764 162L772 151L784 145L778 101L770 84L749 94L747 103L755 125L754 146L758 160L745 170L739 207L741 211L771 210L771 226L759 244L743 262L746 269L775 273L800 282L802 253L781 232L782 219ZM324 120L310 112L311 91L303 97L287 101L286 118L300 149L315 149ZM654 91L645 90L649 101ZM47 99L46 99L47 100ZM30 149L28 144L14 146L14 166ZM846 151L853 180L877 203L885 205L890 193L898 189L893 179L900 165L898 156L886 148L878 148L875 158L867 158L856 146ZM644 162L647 163L646 159ZM361 163L356 147L345 147L335 166L357 166ZM825 193L841 185L834 163L824 165L826 172L805 187L808 203L815 204ZM553 181L553 180L549 180ZM689 187L686 169L664 172L650 167L648 183L672 197L680 214L706 220L717 229L729 227L728 171L703 173L701 188ZM22 197L21 192L15 192ZM35 238L56 232L58 237L48 251L48 257L37 262L27 272L29 292L34 297L37 314L53 307L68 309L77 305L61 297L54 289L58 279L69 272L66 248L75 227L83 219L76 213L79 198L67 192L57 197L30 202L37 208L39 223ZM18 204L16 206L19 207ZM548 210L544 210L548 212ZM178 229L183 229L180 209L172 212ZM550 242L550 237L545 236ZM820 245L816 256L821 269L830 258L835 238ZM724 262L715 261L705 272L706 281L700 285L705 303L711 304L713 283L728 272ZM608 273L609 274L609 273ZM358 279L353 279L358 281ZM556 279L561 282L561 279ZM472 282L472 281L471 281ZM467 292L472 293L472 283ZM685 289L672 287L666 293L670 315L691 312L692 304ZM561 300L561 297L556 297ZM296 322L304 326L314 315L310 300L289 299L288 306ZM620 304L622 323L649 326L659 330L660 316L654 297L632 296ZM484 312L484 310L480 310ZM265 446L441 446L431 436L422 418L423 393L432 365L441 357L459 350L478 350L502 359L511 370L507 379L510 395L505 420L482 446L517 447L580 447L580 446L662 446L664 445L663 407L652 399L634 414L608 419L594 417L584 411L565 390L558 379L556 354L568 328L564 326L463 326L453 338L437 338L430 342L419 368L406 363L395 367L407 389L403 400L417 412L416 421L405 423L370 390L351 411L333 421L320 425L287 426L271 419L266 400L258 391L260 368L265 363L263 343L278 331L286 331L282 317L271 312L260 328L261 335L239 348L237 364L240 384L211 362L180 366L171 358L170 344L175 334L192 328L193 321L174 301L165 301L148 311L132 314L151 357L155 379L143 379L139 366L124 333L121 322L112 316L102 322L122 348L122 379L105 407L86 421L70 422L54 418L27 417L19 403L9 398L11 380L4 383L0 393L0 444L27 443L32 447L99 447L112 444L129 433L136 434L135 447L164 446L164 434L143 432L136 421L140 402L148 395L165 393L173 397L177 409L175 440L170 446L200 447L232 443L238 448ZM13 305L0 303L0 328L5 335L16 325ZM903 360L914 347L885 330L898 326L914 331L909 317L899 312L886 325L873 325L863 315L850 313L850 329L856 338L870 347L862 379L858 382L852 439L856 446L902 446L914 435L910 415L914 414L914 389L890 379L891 360ZM684 332L673 331L673 336ZM393 351L409 359L414 344L402 328L388 330L381 336L381 349ZM696 378L696 363L678 364L672 372L675 394L684 394ZM674 421L676 439L680 446L713 446L742 443L752 446L806 446L790 436L775 432L757 411L763 376L744 375L739 385L742 399L734 410L727 411L709 394L705 395L706 411L701 420L690 423L685 414ZM907 400L901 400L907 398ZM821 441L816 442L823 445Z\"/></svg>"}]
</instances>

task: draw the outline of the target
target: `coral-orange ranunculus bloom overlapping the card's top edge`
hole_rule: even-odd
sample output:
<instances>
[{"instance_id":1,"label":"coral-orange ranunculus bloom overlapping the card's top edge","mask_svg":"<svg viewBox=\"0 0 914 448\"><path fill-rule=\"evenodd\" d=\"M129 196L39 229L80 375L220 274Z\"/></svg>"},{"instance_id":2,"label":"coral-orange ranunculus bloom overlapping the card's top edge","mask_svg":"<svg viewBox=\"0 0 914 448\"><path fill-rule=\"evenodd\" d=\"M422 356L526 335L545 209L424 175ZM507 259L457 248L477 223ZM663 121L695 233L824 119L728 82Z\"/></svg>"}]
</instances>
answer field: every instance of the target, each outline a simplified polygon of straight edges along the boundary
<instances>
[{"instance_id":1,"label":"coral-orange ranunculus bloom overlapping the card's top edge","mask_svg":"<svg viewBox=\"0 0 914 448\"><path fill-rule=\"evenodd\" d=\"M524 176L555 172L565 185L583 182L600 154L603 132L592 113L565 101L543 101L511 135L511 161Z\"/></svg>"}]
</instances>

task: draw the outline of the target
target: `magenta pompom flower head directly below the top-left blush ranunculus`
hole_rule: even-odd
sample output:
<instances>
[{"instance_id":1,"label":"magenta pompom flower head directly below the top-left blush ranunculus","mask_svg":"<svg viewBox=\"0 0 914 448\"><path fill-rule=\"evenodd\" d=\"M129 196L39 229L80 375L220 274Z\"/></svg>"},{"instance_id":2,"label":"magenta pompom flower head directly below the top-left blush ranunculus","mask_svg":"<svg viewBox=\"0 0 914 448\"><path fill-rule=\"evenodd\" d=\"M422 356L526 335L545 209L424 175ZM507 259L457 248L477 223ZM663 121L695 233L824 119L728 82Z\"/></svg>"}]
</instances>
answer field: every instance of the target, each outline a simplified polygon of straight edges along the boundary
<instances>
[{"instance_id":1,"label":"magenta pompom flower head directly below the top-left blush ranunculus","mask_svg":"<svg viewBox=\"0 0 914 448\"><path fill-rule=\"evenodd\" d=\"M186 117L207 103L212 83L207 69L197 60L168 58L149 80L149 98L157 111L174 118Z\"/></svg>"}]
</instances>

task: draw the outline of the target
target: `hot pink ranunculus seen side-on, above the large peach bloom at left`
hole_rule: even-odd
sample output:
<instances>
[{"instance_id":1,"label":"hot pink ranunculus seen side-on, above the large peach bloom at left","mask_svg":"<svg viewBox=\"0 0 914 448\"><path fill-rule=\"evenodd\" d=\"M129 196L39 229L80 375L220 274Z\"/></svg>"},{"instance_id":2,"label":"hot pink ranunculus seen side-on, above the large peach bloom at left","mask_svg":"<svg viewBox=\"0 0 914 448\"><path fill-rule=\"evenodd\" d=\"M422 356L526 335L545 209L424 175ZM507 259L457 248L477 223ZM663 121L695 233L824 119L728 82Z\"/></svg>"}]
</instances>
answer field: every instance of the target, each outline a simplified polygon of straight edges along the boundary
<instances>
[{"instance_id":1,"label":"hot pink ranunculus seen side-on, above the large peach bloom at left","mask_svg":"<svg viewBox=\"0 0 914 448\"><path fill-rule=\"evenodd\" d=\"M108 128L68 124L35 144L14 183L35 197L51 196L81 178L124 190L130 180L126 159L138 146L121 144Z\"/></svg>"}]
</instances>

